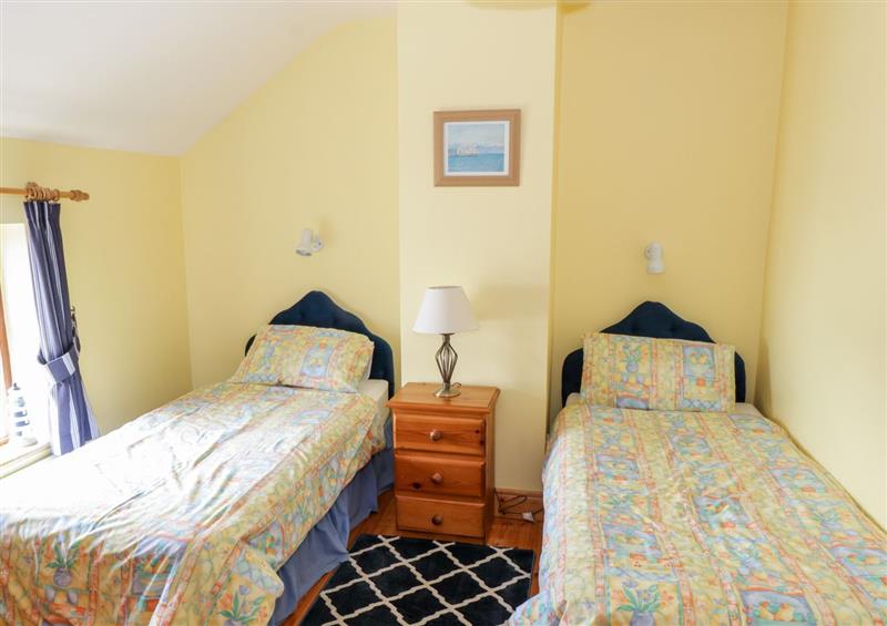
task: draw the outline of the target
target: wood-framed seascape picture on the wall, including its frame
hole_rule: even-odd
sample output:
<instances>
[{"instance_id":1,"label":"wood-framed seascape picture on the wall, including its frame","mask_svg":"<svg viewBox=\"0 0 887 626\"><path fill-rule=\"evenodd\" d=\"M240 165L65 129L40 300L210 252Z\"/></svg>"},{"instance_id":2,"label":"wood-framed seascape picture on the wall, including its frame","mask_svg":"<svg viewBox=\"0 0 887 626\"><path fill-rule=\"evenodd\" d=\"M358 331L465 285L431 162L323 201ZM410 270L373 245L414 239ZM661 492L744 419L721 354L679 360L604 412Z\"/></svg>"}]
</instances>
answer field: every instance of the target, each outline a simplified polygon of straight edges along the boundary
<instances>
[{"instance_id":1,"label":"wood-framed seascape picture on the wall, including its frame","mask_svg":"<svg viewBox=\"0 0 887 626\"><path fill-rule=\"evenodd\" d=\"M435 186L519 184L519 109L435 111Z\"/></svg>"}]
</instances>

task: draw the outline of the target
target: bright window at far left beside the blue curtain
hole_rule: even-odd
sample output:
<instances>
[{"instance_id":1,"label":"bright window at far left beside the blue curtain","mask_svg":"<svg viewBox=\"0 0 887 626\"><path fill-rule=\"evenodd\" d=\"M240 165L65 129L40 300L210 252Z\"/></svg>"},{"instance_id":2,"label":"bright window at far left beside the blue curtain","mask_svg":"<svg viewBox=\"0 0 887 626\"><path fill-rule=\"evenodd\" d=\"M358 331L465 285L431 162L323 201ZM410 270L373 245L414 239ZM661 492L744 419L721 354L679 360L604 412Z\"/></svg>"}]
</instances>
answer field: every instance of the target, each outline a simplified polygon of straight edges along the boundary
<instances>
[{"instance_id":1,"label":"bright window at far left beside the blue curtain","mask_svg":"<svg viewBox=\"0 0 887 626\"><path fill-rule=\"evenodd\" d=\"M23 224L0 225L0 286L6 318L6 345L11 381L3 381L3 407L0 415L0 437L9 433L9 412L6 410L7 389L16 382L24 394L33 435L41 443L49 441L49 384L37 361L40 351L40 330L37 306L31 287L28 260L28 239ZM0 349L0 352L3 352ZM6 353L3 353L6 359ZM4 361L6 362L6 361Z\"/></svg>"}]
</instances>

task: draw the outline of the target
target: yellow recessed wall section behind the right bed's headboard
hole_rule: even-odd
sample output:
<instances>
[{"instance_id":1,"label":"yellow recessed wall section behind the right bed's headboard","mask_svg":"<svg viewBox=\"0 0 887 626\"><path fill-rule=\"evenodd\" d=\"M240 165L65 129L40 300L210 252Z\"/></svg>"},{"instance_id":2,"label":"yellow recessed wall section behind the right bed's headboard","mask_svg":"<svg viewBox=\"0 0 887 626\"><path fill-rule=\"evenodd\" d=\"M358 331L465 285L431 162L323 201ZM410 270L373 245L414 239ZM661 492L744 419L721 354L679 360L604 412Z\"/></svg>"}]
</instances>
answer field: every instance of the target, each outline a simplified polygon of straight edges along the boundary
<instances>
[{"instance_id":1,"label":"yellow recessed wall section behind the right bed's headboard","mask_svg":"<svg viewBox=\"0 0 887 626\"><path fill-rule=\"evenodd\" d=\"M646 299L735 345L753 387L784 31L782 2L564 12L552 411L581 335Z\"/></svg>"}]
</instances>

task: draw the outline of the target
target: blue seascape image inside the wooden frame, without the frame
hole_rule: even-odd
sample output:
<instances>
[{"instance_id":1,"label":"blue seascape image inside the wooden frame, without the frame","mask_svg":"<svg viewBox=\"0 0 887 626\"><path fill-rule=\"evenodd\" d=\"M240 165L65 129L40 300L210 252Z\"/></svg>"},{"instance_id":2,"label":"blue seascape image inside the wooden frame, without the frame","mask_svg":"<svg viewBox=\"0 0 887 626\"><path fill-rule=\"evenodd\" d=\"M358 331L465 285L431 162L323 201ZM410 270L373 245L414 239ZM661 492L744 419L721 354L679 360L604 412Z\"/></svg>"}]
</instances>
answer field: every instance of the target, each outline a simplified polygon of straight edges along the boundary
<instances>
[{"instance_id":1,"label":"blue seascape image inside the wooden frame, without the frame","mask_svg":"<svg viewBox=\"0 0 887 626\"><path fill-rule=\"evenodd\" d=\"M443 136L447 175L508 175L508 121L447 122Z\"/></svg>"}]
</instances>

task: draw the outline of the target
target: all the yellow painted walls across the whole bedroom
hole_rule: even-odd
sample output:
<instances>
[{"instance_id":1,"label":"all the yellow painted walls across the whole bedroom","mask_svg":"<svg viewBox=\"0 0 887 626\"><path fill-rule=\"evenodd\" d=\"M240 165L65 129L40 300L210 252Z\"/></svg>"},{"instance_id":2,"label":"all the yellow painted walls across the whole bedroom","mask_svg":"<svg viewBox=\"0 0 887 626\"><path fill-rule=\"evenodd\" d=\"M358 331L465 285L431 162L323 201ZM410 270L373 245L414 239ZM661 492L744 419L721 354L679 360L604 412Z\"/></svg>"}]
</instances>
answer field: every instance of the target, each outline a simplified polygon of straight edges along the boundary
<instances>
[{"instance_id":1,"label":"all the yellow painted walls across the whole bedroom","mask_svg":"<svg viewBox=\"0 0 887 626\"><path fill-rule=\"evenodd\" d=\"M884 4L558 11L405 2L340 25L180 160L2 140L3 185L93 196L63 227L102 430L228 377L313 288L404 381L437 380L439 338L411 326L427 286L458 284L480 330L453 339L456 379L502 389L497 484L536 490L563 357L655 299L735 343L748 398L884 524ZM431 112L475 107L522 110L519 187L434 186Z\"/></svg>"}]
</instances>

